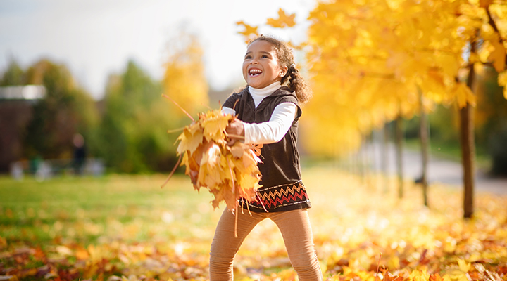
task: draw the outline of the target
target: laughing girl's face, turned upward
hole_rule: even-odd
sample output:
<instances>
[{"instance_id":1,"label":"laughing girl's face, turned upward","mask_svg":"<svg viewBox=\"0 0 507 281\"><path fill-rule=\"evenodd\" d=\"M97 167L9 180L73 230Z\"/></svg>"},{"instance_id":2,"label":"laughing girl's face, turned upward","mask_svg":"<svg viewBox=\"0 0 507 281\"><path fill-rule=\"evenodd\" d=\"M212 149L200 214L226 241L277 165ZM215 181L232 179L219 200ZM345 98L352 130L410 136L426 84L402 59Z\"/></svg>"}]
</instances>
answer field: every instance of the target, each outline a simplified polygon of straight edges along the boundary
<instances>
[{"instance_id":1,"label":"laughing girl's face, turned upward","mask_svg":"<svg viewBox=\"0 0 507 281\"><path fill-rule=\"evenodd\" d=\"M243 61L243 77L249 86L262 89L275 81L281 81L287 67L280 67L273 44L264 40L254 41L246 50Z\"/></svg>"}]
</instances>

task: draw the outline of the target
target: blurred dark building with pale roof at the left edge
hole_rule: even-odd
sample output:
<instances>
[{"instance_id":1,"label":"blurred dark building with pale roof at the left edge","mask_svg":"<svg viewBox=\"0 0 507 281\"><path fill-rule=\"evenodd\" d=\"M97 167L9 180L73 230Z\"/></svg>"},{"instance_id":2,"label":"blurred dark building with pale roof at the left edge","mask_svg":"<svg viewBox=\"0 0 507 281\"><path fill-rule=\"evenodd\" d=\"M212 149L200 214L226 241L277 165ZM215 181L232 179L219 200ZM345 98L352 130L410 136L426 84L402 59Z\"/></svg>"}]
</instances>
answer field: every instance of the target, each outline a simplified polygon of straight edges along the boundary
<instances>
[{"instance_id":1,"label":"blurred dark building with pale roof at the left edge","mask_svg":"<svg viewBox=\"0 0 507 281\"><path fill-rule=\"evenodd\" d=\"M23 153L23 131L32 119L33 105L46 97L40 85L0 86L0 173Z\"/></svg>"}]
</instances>

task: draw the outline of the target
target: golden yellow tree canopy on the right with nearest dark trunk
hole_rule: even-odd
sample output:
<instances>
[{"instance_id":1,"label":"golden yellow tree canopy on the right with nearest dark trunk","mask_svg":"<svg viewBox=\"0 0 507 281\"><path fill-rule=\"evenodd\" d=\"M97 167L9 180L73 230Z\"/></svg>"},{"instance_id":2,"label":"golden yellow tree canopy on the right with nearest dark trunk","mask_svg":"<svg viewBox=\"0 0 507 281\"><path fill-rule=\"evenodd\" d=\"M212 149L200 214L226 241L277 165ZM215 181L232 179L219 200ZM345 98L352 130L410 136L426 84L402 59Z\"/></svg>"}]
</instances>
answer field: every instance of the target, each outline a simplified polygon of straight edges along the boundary
<instances>
[{"instance_id":1,"label":"golden yellow tree canopy on the right with nearest dark trunk","mask_svg":"<svg viewBox=\"0 0 507 281\"><path fill-rule=\"evenodd\" d=\"M318 3L306 43L315 96L302 120L308 151L339 155L396 117L454 103L462 108L465 205L471 205L474 65L492 64L507 98L506 6L493 0ZM289 22L287 15L279 15L268 25L287 25L280 22ZM471 214L465 208L465 217Z\"/></svg>"}]
</instances>

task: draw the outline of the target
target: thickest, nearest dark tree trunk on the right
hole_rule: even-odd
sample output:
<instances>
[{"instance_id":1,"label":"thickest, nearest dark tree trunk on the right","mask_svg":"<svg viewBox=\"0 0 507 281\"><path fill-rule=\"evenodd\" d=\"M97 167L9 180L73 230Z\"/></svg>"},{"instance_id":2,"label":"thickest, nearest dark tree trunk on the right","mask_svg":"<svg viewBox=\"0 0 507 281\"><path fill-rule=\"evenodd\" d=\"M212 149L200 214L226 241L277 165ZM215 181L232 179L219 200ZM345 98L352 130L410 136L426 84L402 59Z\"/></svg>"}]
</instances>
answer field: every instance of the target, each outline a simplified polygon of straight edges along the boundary
<instances>
[{"instance_id":1,"label":"thickest, nearest dark tree trunk on the right","mask_svg":"<svg viewBox=\"0 0 507 281\"><path fill-rule=\"evenodd\" d=\"M470 53L475 52L475 41L471 43ZM475 79L473 63L470 64L467 86L472 89ZM467 104L460 109L460 143L463 164L463 217L472 218L474 212L474 181L475 181L475 140L473 124L473 106Z\"/></svg>"}]
</instances>

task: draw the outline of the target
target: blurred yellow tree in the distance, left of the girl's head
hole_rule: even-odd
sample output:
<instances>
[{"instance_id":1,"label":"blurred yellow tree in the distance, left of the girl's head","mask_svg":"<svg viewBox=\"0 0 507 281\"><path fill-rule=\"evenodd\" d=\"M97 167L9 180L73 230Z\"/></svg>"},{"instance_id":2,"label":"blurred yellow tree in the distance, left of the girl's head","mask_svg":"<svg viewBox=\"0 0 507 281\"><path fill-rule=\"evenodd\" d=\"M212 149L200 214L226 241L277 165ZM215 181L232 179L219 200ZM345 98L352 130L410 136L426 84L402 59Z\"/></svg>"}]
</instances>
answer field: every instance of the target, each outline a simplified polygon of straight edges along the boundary
<instances>
[{"instance_id":1,"label":"blurred yellow tree in the distance, left of the girl's head","mask_svg":"<svg viewBox=\"0 0 507 281\"><path fill-rule=\"evenodd\" d=\"M208 105L208 83L201 45L195 36L182 33L171 41L168 53L163 77L164 93L195 116ZM175 115L184 115L170 104Z\"/></svg>"}]
</instances>

